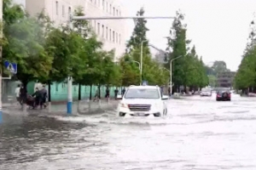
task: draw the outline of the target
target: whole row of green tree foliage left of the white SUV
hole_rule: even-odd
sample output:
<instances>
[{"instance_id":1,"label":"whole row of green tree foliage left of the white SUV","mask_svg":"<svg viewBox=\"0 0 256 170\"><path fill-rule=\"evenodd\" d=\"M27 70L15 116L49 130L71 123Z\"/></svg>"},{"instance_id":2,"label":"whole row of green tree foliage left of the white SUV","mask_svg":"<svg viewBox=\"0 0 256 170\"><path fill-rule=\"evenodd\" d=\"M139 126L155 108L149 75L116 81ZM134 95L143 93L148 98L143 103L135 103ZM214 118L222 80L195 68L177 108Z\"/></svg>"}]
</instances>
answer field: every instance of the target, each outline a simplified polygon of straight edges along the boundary
<instances>
[{"instance_id":1,"label":"whole row of green tree foliage left of the white SUV","mask_svg":"<svg viewBox=\"0 0 256 170\"><path fill-rule=\"evenodd\" d=\"M83 11L79 7L74 15L84 15ZM103 50L88 20L55 27L44 12L30 16L4 0L3 34L3 59L18 64L17 79L24 84L62 82L67 77L84 85L121 83L113 50Z\"/></svg>"}]
</instances>

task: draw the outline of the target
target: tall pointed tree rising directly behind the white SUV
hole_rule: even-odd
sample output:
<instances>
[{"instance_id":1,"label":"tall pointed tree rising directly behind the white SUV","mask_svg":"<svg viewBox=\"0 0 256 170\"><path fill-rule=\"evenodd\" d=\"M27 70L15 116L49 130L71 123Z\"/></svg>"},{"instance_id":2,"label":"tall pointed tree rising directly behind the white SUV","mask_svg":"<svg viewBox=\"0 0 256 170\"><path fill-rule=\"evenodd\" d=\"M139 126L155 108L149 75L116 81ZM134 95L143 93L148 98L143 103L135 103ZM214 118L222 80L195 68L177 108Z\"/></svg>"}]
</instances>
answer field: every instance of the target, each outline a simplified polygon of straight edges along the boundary
<instances>
[{"instance_id":1,"label":"tall pointed tree rising directly behind the white SUV","mask_svg":"<svg viewBox=\"0 0 256 170\"><path fill-rule=\"evenodd\" d=\"M141 8L137 12L137 16L143 16L145 13L144 9ZM152 59L150 50L148 48L148 38L146 26L147 20L136 19L136 26L132 32L131 39L127 43L127 54L124 55L124 59L121 59L121 66L124 71L123 75L123 85L137 84L141 79L139 73L137 61L140 65L143 65L143 75L142 79L147 80L148 84L166 84L168 76L166 71L163 71L161 65L159 65L156 60ZM141 64L141 48L143 44L143 63ZM126 59L126 61L125 61ZM127 61L128 59L128 61ZM131 80L129 80L131 78Z\"/></svg>"}]
</instances>

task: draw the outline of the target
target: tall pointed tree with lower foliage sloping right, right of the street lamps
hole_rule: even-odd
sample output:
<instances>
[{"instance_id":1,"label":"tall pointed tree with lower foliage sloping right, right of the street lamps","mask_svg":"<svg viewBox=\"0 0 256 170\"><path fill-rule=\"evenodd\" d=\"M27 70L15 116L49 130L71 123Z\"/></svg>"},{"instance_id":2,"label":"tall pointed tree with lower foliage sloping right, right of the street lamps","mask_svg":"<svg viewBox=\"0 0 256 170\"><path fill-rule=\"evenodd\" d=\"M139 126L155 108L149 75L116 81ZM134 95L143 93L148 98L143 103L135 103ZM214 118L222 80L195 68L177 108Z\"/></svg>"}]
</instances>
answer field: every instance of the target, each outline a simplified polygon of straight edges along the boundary
<instances>
[{"instance_id":1,"label":"tall pointed tree with lower foliage sloping right, right of the street lamps","mask_svg":"<svg viewBox=\"0 0 256 170\"><path fill-rule=\"evenodd\" d=\"M167 50L168 63L172 60L172 82L174 91L180 87L203 88L208 85L207 70L201 58L195 51L195 46L189 49L190 40L186 37L187 28L183 24L184 14L177 11L176 19L172 22ZM170 64L166 65L171 69Z\"/></svg>"}]
</instances>

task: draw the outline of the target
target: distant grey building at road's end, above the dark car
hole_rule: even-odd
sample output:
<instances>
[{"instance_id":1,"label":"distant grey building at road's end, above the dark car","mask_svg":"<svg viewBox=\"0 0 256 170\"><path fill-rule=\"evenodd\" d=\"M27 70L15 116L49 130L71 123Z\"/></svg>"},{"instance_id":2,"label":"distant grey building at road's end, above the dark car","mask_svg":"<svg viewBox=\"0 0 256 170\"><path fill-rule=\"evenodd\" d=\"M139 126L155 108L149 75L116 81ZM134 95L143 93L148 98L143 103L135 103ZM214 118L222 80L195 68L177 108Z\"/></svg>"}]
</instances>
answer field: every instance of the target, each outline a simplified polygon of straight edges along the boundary
<instances>
[{"instance_id":1,"label":"distant grey building at road's end, above the dark car","mask_svg":"<svg viewBox=\"0 0 256 170\"><path fill-rule=\"evenodd\" d=\"M235 71L225 71L225 72L218 73L218 77L217 77L218 87L231 88L235 76L236 76Z\"/></svg>"}]
</instances>

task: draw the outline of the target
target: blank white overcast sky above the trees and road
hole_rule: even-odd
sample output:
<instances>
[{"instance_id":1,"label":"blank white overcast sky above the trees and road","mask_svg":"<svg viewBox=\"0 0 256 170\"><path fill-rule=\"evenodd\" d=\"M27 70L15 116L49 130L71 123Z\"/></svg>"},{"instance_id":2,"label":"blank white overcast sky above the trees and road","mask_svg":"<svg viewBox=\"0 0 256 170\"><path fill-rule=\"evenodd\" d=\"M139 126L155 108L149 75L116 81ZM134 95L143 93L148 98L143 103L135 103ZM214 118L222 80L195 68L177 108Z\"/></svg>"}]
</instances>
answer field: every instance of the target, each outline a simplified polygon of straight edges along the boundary
<instances>
[{"instance_id":1,"label":"blank white overcast sky above the trees and road","mask_svg":"<svg viewBox=\"0 0 256 170\"><path fill-rule=\"evenodd\" d=\"M247 44L249 24L256 11L256 0L121 0L127 15L135 15L140 7L145 15L175 16L178 9L186 15L187 37L195 44L197 54L206 64L224 60L236 71ZM134 27L127 21L127 39ZM148 39L165 49L172 20L148 20ZM129 35L128 35L129 34Z\"/></svg>"}]
</instances>

